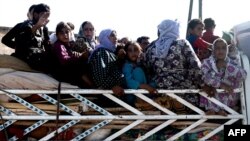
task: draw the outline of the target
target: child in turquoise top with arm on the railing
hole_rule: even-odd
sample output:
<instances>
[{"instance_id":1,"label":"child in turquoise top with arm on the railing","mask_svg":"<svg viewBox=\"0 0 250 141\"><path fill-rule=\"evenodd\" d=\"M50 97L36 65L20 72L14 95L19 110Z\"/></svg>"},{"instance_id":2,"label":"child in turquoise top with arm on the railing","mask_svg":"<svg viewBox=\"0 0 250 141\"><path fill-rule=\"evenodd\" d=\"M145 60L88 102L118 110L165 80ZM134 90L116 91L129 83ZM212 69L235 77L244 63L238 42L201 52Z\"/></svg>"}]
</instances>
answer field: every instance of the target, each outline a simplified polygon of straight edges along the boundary
<instances>
[{"instance_id":1,"label":"child in turquoise top with arm on the railing","mask_svg":"<svg viewBox=\"0 0 250 141\"><path fill-rule=\"evenodd\" d=\"M129 42L125 46L126 62L123 65L123 74L129 89L146 89L151 94L156 94L155 88L147 84L146 76L137 61L141 53L138 43Z\"/></svg>"}]
</instances>

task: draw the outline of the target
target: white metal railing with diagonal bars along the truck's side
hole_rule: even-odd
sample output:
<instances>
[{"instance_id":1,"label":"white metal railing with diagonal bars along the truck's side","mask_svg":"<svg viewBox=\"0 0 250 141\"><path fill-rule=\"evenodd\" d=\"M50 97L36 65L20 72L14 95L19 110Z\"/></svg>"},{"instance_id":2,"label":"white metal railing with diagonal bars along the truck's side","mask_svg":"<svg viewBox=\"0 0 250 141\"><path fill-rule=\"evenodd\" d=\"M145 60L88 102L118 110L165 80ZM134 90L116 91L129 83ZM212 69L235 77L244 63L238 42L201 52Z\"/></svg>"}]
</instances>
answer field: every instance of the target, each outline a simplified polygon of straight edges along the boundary
<instances>
[{"instance_id":1,"label":"white metal railing with diagonal bars along the truck's side","mask_svg":"<svg viewBox=\"0 0 250 141\"><path fill-rule=\"evenodd\" d=\"M221 92L221 91L222 90L218 90L218 92ZM136 140L139 141L139 140L147 139L149 136L157 133L161 129L171 124L174 124L175 122L180 121L180 120L188 120L188 121L192 121L192 123L190 123L185 129L176 133L175 135L173 135L167 140L176 140L182 135L204 124L209 119L227 120L227 122L225 122L224 124L220 124L214 130L212 130L209 134L200 138L199 140L209 139L216 133L222 131L224 125L233 124L238 120L242 120L243 124L247 124L245 96L244 96L244 90L242 89L235 90L235 92L241 93L241 107L242 107L241 113L236 112L235 110L228 107L227 105L224 105L223 103L216 100L215 98L207 97L207 94L204 92L201 92L200 90L158 90L158 92L161 95L167 95L171 98L176 99L177 101L179 101L186 107L189 107L190 109L192 109L194 112L196 112L196 114L183 115L183 114L174 113L173 111L170 111L169 109L166 109L165 107L162 107L161 105L159 105L152 99L148 98L146 96L147 91L145 90L125 90L125 93L133 94L136 97L151 104L154 108L156 108L158 111L161 112L160 114L155 115L155 114L150 114L150 113L144 113L140 111L139 109L128 105L127 103L123 102L122 100L114 96L111 90L87 90L87 89L61 90L61 95L71 95L82 104L85 104L88 107L95 109L97 112L99 112L99 115L81 115L77 113L75 110L72 110L70 106L60 103L59 108L68 114L59 115L59 120L67 121L67 122L63 125L60 125L57 130L44 136L40 140L50 140L51 138L56 136L56 132L61 133L70 127L77 126L77 124L79 124L81 121L92 121L92 120L94 121L97 120L98 123L88 128L87 130L85 130L84 132L82 132L81 134L79 134L72 140L74 141L81 140L85 138L86 136L92 134L93 132L97 131L98 129L105 128L105 126L108 126L109 123L114 122L114 121L129 121L129 124L121 128L119 131L108 136L105 140L116 139L117 137L125 133L126 131L133 129L138 125L144 124L144 122L147 122L147 121L161 121L161 123L158 125L154 125L153 128L151 127L147 133L138 137ZM25 121L38 121L24 130L25 131L24 134L28 134L32 132L34 129L39 128L40 126L45 126L48 121L56 121L57 116L55 114L46 113L45 110L42 110L36 107L35 104L31 104L23 100L20 96L22 94L38 94L43 99L45 99L49 103L56 106L57 100L52 98L51 95L56 95L57 93L58 93L57 90L4 90L4 91L0 91L0 94L5 94L9 96L13 100L27 107L27 109L30 109L31 111L36 113L36 115L18 115L12 112L10 109L5 108L4 106L0 106L0 110L3 111L2 118L4 120L7 120L5 122L5 127L8 127L11 124L15 124L16 121L24 121L24 120ZM205 98L212 101L216 105L223 107L224 110L227 111L229 114L227 116L205 115L204 111L201 110L199 107L195 107L191 103L187 102L185 99L178 96L178 95L185 94L185 93L200 94L201 96L204 96ZM98 103L93 103L90 100L88 100L85 97L86 94L103 95L107 97L108 99L110 99L111 101L119 104L121 107L123 107L127 111L130 111L131 113L130 114L126 114L126 113L114 114L112 112L109 112L105 108L98 106ZM0 130L3 130L3 125L0 125ZM17 137L11 137L10 140L17 140L17 139L18 139Z\"/></svg>"}]
</instances>

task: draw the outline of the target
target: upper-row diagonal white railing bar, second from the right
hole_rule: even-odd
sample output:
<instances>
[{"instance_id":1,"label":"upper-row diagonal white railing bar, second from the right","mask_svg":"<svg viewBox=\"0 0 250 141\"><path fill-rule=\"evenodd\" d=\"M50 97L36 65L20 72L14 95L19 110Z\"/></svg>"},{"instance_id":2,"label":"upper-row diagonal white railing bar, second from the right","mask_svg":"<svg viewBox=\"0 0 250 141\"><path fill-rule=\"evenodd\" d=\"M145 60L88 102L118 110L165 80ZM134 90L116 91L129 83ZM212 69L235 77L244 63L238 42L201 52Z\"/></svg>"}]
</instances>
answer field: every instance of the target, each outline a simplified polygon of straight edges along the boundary
<instances>
[{"instance_id":1,"label":"upper-row diagonal white railing bar, second from the right","mask_svg":"<svg viewBox=\"0 0 250 141\"><path fill-rule=\"evenodd\" d=\"M173 94L173 93L166 93L166 95L175 98L177 101L179 101L180 103L184 104L185 106L189 107L190 109L194 110L195 112L197 112L200 115L205 115L205 112L202 111L201 109L195 107L194 105L192 105L191 103L187 102L186 100L180 98L179 96Z\"/></svg>"}]
</instances>

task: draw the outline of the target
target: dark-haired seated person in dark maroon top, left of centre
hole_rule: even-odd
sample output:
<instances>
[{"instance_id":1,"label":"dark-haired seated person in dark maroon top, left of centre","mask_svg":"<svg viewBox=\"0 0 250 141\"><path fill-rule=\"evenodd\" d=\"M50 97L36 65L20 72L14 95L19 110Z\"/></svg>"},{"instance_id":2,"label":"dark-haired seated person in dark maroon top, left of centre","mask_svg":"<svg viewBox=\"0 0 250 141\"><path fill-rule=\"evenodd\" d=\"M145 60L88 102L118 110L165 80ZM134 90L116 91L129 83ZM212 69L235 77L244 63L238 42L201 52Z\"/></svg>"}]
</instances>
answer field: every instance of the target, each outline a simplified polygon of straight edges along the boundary
<instances>
[{"instance_id":1,"label":"dark-haired seated person in dark maroon top, left of centre","mask_svg":"<svg viewBox=\"0 0 250 141\"><path fill-rule=\"evenodd\" d=\"M52 48L55 55L53 75L60 81L69 82L80 87L91 87L92 83L86 79L87 59L89 52L78 53L70 46L71 28L65 22L56 27L57 41Z\"/></svg>"}]
</instances>

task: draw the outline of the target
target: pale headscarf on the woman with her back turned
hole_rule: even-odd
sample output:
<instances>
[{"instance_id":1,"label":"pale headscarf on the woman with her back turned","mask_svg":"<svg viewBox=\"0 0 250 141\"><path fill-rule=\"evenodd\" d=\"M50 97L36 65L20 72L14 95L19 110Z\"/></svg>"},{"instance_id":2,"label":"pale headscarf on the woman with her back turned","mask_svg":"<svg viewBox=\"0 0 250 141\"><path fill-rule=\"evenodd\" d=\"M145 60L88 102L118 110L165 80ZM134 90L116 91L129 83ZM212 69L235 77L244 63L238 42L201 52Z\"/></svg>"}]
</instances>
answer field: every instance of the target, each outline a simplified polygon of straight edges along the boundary
<instances>
[{"instance_id":1,"label":"pale headscarf on the woman with her back turned","mask_svg":"<svg viewBox=\"0 0 250 141\"><path fill-rule=\"evenodd\" d=\"M179 23L173 20L164 20L158 25L159 38L155 42L156 53L159 58L165 58L173 41L179 38Z\"/></svg>"}]
</instances>

